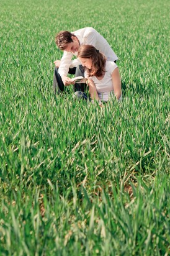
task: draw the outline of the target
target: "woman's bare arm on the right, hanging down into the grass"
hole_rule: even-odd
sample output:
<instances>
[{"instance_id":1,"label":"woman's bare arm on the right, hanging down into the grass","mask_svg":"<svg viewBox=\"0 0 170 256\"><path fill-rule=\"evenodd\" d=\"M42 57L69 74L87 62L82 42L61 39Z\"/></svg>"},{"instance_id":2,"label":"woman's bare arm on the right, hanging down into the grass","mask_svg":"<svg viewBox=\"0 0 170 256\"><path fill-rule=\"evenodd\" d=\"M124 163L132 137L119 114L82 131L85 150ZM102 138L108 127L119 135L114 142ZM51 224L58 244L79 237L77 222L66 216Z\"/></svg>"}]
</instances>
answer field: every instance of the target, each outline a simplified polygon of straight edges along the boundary
<instances>
[{"instance_id":1,"label":"woman's bare arm on the right, hanging down into the grass","mask_svg":"<svg viewBox=\"0 0 170 256\"><path fill-rule=\"evenodd\" d=\"M112 72L112 83L114 86L114 94L117 99L120 99L122 96L122 89L119 68L115 68L115 70Z\"/></svg>"}]
</instances>

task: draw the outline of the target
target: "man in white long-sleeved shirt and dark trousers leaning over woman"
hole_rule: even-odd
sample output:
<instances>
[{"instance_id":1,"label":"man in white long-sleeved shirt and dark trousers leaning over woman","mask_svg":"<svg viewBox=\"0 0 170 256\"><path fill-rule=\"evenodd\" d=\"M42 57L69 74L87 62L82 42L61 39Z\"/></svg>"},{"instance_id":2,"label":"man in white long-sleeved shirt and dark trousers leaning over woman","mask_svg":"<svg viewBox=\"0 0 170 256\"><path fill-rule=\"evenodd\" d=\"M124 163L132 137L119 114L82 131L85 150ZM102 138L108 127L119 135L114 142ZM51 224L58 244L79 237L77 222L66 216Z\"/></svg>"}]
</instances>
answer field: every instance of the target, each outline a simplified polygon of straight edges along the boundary
<instances>
[{"instance_id":1,"label":"man in white long-sleeved shirt and dark trousers leaning over woman","mask_svg":"<svg viewBox=\"0 0 170 256\"><path fill-rule=\"evenodd\" d=\"M65 86L73 84L71 78L67 76L68 73L84 76L84 68L78 58L72 60L73 55L77 55L80 45L93 45L99 52L104 53L107 60L112 62L118 59L107 40L92 27L85 27L74 32L61 31L56 35L55 42L58 48L64 51L61 61L56 60L54 62L53 89L55 93L60 93L64 91ZM74 85L74 91L84 92L84 89L84 84Z\"/></svg>"}]
</instances>

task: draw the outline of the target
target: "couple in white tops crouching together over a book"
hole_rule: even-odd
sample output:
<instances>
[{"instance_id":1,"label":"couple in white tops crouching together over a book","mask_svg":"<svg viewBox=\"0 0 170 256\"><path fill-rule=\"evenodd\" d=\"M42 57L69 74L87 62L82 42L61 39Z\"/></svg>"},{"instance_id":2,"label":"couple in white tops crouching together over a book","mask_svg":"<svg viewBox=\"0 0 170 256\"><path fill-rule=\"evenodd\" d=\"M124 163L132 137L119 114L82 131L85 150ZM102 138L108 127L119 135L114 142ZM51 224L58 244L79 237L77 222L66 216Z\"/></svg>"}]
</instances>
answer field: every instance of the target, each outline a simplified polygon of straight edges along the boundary
<instances>
[{"instance_id":1,"label":"couple in white tops crouching together over a book","mask_svg":"<svg viewBox=\"0 0 170 256\"><path fill-rule=\"evenodd\" d=\"M122 98L120 74L115 64L117 56L109 43L92 27L76 30L73 33L62 31L56 35L56 45L64 51L63 57L55 61L53 89L55 93L64 91L65 86L74 84L67 75L87 78L91 99L107 102L114 93ZM78 57L72 60L73 55ZM86 84L76 83L77 96L87 98Z\"/></svg>"}]
</instances>

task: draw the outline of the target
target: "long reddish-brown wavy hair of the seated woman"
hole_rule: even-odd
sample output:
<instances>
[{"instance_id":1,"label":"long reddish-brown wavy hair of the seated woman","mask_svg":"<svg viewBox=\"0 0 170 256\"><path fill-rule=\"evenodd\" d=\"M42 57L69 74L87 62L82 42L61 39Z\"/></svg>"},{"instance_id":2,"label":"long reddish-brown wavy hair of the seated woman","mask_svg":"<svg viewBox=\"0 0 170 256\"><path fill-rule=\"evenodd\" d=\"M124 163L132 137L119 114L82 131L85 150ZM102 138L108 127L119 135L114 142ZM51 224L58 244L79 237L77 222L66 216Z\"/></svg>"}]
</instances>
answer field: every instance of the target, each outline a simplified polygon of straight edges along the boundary
<instances>
[{"instance_id":1,"label":"long reddish-brown wavy hair of the seated woman","mask_svg":"<svg viewBox=\"0 0 170 256\"><path fill-rule=\"evenodd\" d=\"M91 58L92 68L89 70L90 76L102 76L105 72L105 55L99 52L92 45L81 45L78 50L78 57L80 58Z\"/></svg>"}]
</instances>

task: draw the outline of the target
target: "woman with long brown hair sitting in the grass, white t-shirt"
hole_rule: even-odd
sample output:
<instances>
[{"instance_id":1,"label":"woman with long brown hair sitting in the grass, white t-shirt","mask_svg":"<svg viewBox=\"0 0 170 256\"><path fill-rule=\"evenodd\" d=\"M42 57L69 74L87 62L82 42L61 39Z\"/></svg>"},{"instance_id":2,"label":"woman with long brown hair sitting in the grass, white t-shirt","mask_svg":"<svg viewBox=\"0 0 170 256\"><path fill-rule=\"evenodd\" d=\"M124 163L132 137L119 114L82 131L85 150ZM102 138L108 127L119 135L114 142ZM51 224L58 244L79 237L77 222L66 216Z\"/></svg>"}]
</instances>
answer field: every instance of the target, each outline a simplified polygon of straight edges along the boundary
<instances>
[{"instance_id":1,"label":"woman with long brown hair sitting in the grass, white t-shirt","mask_svg":"<svg viewBox=\"0 0 170 256\"><path fill-rule=\"evenodd\" d=\"M120 101L122 89L120 74L114 62L107 61L105 55L92 45L81 45L78 50L78 58L86 68L84 76L87 79L91 99L107 102L115 94Z\"/></svg>"}]
</instances>

